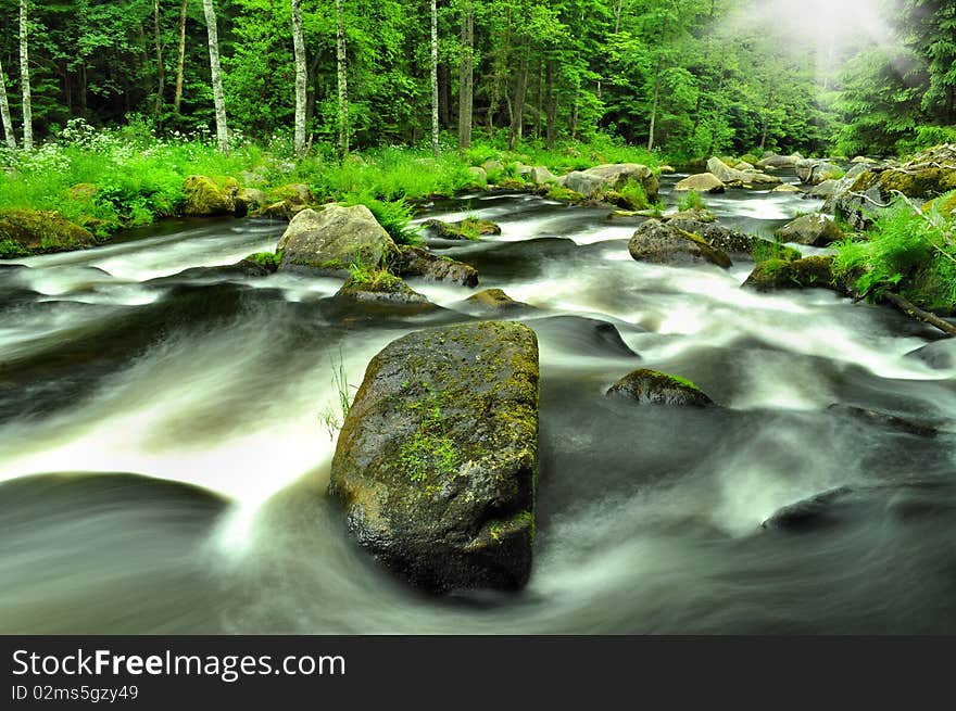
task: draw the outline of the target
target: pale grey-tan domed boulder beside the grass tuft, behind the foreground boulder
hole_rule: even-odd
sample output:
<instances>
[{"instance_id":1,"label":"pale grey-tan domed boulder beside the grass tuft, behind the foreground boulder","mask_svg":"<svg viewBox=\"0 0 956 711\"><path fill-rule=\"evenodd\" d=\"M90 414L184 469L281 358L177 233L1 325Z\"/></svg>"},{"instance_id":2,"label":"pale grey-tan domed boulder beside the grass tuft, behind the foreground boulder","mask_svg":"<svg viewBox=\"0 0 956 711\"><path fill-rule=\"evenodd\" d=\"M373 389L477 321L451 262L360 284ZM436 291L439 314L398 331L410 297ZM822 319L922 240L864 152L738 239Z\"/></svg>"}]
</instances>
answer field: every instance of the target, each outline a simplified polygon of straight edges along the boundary
<instances>
[{"instance_id":1,"label":"pale grey-tan domed boulder beside the grass tuft, behind the foreground boulder","mask_svg":"<svg viewBox=\"0 0 956 711\"><path fill-rule=\"evenodd\" d=\"M282 252L279 270L341 274L352 265L378 267L395 244L365 205L326 205L297 214L277 250Z\"/></svg>"}]
</instances>

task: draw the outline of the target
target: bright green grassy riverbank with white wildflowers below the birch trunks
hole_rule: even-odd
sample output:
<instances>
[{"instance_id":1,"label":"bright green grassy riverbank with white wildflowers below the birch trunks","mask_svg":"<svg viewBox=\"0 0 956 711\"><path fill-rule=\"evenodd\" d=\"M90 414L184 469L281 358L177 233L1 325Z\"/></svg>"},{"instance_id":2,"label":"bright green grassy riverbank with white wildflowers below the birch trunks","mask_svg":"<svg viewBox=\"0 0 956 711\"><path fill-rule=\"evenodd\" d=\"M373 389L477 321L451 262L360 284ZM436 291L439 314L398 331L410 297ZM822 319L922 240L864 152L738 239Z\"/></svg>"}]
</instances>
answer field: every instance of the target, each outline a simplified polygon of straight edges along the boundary
<instances>
[{"instance_id":1,"label":"bright green grassy riverbank with white wildflowers below the birch trunks","mask_svg":"<svg viewBox=\"0 0 956 711\"><path fill-rule=\"evenodd\" d=\"M476 142L466 151L445 149L437 158L425 148L383 147L353 153L339 164L323 150L294 158L281 143L237 141L224 155L202 135L161 139L136 127L96 130L74 122L59 141L30 153L8 154L0 178L0 215L55 213L88 236L62 241L59 231L51 230L35 247L16 247L15 236L0 233L0 257L103 242L123 229L188 214L186 179L196 175L234 192L261 191L257 200L265 204L286 199L284 188L290 185L305 186L317 203L414 204L488 185L521 187L528 177L521 175L521 166L543 166L563 175L601 163L655 168L662 161L656 153L599 136L553 150L528 143L507 151L495 141Z\"/></svg>"}]
</instances>

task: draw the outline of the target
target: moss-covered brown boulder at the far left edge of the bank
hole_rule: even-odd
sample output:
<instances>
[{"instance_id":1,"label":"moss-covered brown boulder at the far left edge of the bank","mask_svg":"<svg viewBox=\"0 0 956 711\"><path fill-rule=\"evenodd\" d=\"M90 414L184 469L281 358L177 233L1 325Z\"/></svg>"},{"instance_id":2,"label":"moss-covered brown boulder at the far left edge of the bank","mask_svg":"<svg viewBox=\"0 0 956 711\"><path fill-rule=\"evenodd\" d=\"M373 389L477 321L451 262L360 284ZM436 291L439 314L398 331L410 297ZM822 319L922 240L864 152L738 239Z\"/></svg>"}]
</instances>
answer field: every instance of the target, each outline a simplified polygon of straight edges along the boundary
<instances>
[{"instance_id":1,"label":"moss-covered brown boulder at the far left edge of the bank","mask_svg":"<svg viewBox=\"0 0 956 711\"><path fill-rule=\"evenodd\" d=\"M0 258L92 246L96 238L60 213L37 210L0 212Z\"/></svg>"}]
</instances>

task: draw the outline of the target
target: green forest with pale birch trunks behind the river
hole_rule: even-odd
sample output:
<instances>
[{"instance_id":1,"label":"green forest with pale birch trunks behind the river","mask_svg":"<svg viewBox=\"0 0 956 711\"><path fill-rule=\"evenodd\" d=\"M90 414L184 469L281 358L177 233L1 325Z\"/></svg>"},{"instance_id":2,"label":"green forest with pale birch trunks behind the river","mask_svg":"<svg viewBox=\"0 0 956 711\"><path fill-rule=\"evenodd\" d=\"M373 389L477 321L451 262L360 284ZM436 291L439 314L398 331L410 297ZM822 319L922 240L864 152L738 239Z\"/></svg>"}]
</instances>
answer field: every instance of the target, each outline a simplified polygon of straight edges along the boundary
<instances>
[{"instance_id":1,"label":"green forest with pale birch trunks behind the river","mask_svg":"<svg viewBox=\"0 0 956 711\"><path fill-rule=\"evenodd\" d=\"M299 122L328 152L428 143L437 109L443 147L602 135L672 162L953 140L953 4L839 4L793 26L773 0L4 0L3 129L222 123L269 145Z\"/></svg>"}]
</instances>

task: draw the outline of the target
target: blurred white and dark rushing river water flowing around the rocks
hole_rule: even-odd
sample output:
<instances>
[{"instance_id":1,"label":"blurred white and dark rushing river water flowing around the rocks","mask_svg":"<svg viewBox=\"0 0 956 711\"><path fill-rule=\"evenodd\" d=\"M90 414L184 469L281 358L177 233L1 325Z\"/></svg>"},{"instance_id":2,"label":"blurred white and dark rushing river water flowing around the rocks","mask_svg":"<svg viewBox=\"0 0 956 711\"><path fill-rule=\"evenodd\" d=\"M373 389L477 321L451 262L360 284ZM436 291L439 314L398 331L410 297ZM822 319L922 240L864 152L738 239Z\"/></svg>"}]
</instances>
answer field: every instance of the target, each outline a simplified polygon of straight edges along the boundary
<instances>
[{"instance_id":1,"label":"blurred white and dark rushing river water flowing around the rocks","mask_svg":"<svg viewBox=\"0 0 956 711\"><path fill-rule=\"evenodd\" d=\"M818 206L708 203L765 233ZM0 265L0 632L956 632L948 343L828 291L742 290L749 264L638 264L636 221L606 211L474 194L428 216L466 214L503 234L432 246L533 307L517 318L541 342L525 591L410 591L325 494L337 366L357 384L401 334L479 317L468 292L413 282L442 308L343 309L335 279L206 268L284 226L180 223ZM722 407L604 397L638 367ZM840 486L813 525L760 526Z\"/></svg>"}]
</instances>

